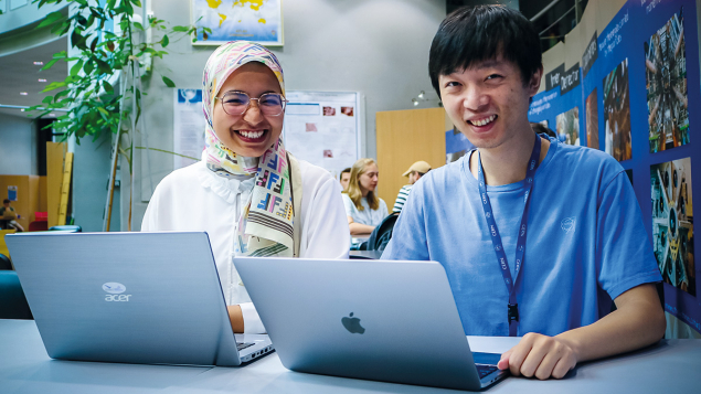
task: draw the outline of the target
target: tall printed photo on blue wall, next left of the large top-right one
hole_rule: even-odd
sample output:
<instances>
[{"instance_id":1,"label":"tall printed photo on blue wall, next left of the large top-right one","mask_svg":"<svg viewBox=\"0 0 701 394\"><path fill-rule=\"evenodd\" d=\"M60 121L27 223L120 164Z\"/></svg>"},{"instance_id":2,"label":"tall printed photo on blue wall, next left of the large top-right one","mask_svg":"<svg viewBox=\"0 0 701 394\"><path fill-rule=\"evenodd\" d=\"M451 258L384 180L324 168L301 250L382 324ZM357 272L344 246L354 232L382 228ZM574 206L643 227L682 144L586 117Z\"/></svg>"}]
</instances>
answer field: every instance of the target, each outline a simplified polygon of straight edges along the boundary
<instances>
[{"instance_id":1,"label":"tall printed photo on blue wall, next left of the large top-right one","mask_svg":"<svg viewBox=\"0 0 701 394\"><path fill-rule=\"evenodd\" d=\"M606 127L606 153L618 161L630 159L628 58L604 78L604 124Z\"/></svg>"}]
</instances>

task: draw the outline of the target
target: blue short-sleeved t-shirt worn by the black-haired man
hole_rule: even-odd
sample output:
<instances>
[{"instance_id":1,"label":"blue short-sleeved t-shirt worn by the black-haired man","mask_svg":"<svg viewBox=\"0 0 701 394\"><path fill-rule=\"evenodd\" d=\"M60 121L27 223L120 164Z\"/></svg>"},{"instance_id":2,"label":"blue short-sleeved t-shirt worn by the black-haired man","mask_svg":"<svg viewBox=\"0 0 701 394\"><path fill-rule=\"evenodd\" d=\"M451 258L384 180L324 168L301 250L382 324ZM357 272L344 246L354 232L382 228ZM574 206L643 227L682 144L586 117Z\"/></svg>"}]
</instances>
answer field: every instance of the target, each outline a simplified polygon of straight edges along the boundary
<instances>
[{"instance_id":1,"label":"blue short-sleeved t-shirt worn by the black-haired man","mask_svg":"<svg viewBox=\"0 0 701 394\"><path fill-rule=\"evenodd\" d=\"M382 258L439 262L465 333L508 336L509 295L469 156L414 184ZM487 187L512 275L524 187ZM551 140L531 193L516 279L519 336L591 324L610 311L612 299L661 280L633 187L610 156Z\"/></svg>"}]
</instances>

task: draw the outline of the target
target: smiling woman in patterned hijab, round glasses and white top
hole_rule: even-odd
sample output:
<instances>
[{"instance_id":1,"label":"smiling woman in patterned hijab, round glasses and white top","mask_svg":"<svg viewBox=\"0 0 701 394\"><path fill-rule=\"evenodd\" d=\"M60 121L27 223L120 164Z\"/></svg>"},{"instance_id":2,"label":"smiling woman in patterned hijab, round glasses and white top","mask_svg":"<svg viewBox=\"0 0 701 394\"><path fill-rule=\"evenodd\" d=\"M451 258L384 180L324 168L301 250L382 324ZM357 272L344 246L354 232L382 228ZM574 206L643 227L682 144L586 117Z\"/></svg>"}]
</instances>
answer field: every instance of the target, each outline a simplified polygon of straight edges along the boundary
<instances>
[{"instance_id":1,"label":"smiling woman in patterned hijab, round glasses and white top","mask_svg":"<svg viewBox=\"0 0 701 394\"><path fill-rule=\"evenodd\" d=\"M234 331L262 333L232 256L348 258L348 221L338 182L284 148L285 83L272 52L226 43L202 79L202 161L159 183L141 230L205 231Z\"/></svg>"}]
</instances>

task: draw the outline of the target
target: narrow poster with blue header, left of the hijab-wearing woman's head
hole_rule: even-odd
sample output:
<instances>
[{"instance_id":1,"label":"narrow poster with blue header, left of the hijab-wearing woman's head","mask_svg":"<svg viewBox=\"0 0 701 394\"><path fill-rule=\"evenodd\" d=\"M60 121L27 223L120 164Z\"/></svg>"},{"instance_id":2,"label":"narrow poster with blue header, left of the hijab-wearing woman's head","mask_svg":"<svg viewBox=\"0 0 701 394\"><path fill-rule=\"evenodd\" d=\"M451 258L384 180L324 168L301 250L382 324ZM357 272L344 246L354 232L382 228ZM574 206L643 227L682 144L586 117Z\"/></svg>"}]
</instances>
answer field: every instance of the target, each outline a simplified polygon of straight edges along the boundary
<instances>
[{"instance_id":1,"label":"narrow poster with blue header, left of the hijab-wearing woman's head","mask_svg":"<svg viewBox=\"0 0 701 394\"><path fill-rule=\"evenodd\" d=\"M204 150L202 89L176 89L173 109L173 170L177 170L200 160Z\"/></svg>"}]
</instances>

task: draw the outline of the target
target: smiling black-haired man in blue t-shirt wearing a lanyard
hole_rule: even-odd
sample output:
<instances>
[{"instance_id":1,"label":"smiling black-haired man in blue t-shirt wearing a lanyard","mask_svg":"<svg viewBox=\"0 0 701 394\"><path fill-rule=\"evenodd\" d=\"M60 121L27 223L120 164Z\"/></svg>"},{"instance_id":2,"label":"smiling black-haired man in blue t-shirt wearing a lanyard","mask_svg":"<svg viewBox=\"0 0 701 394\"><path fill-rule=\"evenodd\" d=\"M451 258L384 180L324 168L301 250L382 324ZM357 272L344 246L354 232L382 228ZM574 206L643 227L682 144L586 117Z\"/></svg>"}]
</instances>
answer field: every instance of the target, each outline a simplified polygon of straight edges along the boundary
<instances>
[{"instance_id":1,"label":"smiling black-haired man in blue t-shirt wearing a lanyard","mask_svg":"<svg viewBox=\"0 0 701 394\"><path fill-rule=\"evenodd\" d=\"M529 124L543 73L531 23L504 7L459 9L428 70L477 149L414 185L382 257L439 262L466 334L523 337L499 362L517 376L563 377L658 341L661 278L624 169Z\"/></svg>"}]
</instances>

